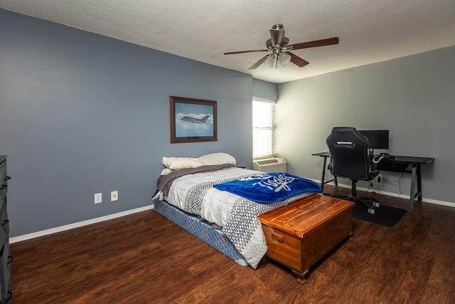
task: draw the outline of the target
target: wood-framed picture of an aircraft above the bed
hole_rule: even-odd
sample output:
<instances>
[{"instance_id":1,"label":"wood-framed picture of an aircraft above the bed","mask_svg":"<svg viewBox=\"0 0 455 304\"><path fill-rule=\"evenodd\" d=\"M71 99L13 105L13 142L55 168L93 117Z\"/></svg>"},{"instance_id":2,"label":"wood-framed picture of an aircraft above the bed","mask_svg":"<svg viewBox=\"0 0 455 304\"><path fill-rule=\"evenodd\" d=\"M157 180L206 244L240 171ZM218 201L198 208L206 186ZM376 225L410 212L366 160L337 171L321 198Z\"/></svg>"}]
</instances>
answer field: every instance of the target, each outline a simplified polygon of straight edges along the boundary
<instances>
[{"instance_id":1,"label":"wood-framed picture of an aircraft above the bed","mask_svg":"<svg viewBox=\"0 0 455 304\"><path fill-rule=\"evenodd\" d=\"M216 142L216 101L170 96L171 143Z\"/></svg>"}]
</instances>

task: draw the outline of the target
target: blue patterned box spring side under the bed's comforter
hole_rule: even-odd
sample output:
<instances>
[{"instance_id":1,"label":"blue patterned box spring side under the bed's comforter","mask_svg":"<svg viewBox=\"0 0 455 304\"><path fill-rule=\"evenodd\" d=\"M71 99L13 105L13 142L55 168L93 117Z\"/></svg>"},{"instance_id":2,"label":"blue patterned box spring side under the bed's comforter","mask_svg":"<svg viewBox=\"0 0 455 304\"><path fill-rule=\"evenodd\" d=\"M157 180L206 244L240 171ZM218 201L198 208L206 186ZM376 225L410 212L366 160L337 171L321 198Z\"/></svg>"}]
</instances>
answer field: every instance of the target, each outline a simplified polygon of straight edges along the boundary
<instances>
[{"instance_id":1,"label":"blue patterned box spring side under the bed's comforter","mask_svg":"<svg viewBox=\"0 0 455 304\"><path fill-rule=\"evenodd\" d=\"M225 256L232 258L239 265L248 265L245 258L240 255L221 229L214 229L207 221L201 221L198 216L188 214L176 206L168 204L166 201L154 201L154 209L169 221L185 229L201 241L208 243L208 245L220 251Z\"/></svg>"}]
</instances>

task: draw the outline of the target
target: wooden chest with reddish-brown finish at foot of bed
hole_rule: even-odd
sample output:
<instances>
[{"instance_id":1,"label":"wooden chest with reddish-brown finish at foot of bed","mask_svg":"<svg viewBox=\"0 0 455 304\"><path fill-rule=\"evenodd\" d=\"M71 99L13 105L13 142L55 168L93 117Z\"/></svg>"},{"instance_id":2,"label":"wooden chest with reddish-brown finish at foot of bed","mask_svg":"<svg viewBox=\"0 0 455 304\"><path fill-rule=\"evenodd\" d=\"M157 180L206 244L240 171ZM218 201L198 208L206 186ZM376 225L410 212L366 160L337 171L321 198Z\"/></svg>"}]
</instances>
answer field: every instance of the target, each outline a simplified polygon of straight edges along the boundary
<instances>
[{"instance_id":1,"label":"wooden chest with reddish-brown finish at foot of bed","mask_svg":"<svg viewBox=\"0 0 455 304\"><path fill-rule=\"evenodd\" d=\"M338 243L352 238L354 203L313 195L259 216L267 256L291 268L304 284L309 268Z\"/></svg>"}]
</instances>

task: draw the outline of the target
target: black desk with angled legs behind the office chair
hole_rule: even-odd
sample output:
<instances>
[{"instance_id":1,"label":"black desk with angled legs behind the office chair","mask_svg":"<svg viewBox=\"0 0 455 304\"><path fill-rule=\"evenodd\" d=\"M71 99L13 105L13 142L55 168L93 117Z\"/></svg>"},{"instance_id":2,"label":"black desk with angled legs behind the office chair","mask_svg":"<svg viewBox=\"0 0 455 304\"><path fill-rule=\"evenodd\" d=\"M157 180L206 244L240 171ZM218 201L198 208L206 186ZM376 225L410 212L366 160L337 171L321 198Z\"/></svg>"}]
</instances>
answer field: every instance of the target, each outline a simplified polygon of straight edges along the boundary
<instances>
[{"instance_id":1,"label":"black desk with angled legs behind the office chair","mask_svg":"<svg viewBox=\"0 0 455 304\"><path fill-rule=\"evenodd\" d=\"M327 158L330 157L329 152L319 152L314 153L311 155L319 156L324 158L323 167L322 167L322 178L321 178L321 188L323 189L323 185L327 184L328 182L335 181L336 186L338 186L338 180L336 177L333 179L326 181L326 162ZM414 156L399 156L396 155L394 158L391 159L382 159L381 162L378 164L378 170L382 171L392 171L392 172L405 172L411 174L411 191L410 191L410 211L414 211L414 201L417 198L419 201L422 201L422 178L420 176L420 164L429 164L430 162L434 162L433 157L414 157ZM380 164L383 164L381 167ZM411 165L411 169L402 169L402 170L394 170L394 169L387 169L387 164L407 164L407 167ZM416 181L417 181L417 192L416 192Z\"/></svg>"}]
</instances>

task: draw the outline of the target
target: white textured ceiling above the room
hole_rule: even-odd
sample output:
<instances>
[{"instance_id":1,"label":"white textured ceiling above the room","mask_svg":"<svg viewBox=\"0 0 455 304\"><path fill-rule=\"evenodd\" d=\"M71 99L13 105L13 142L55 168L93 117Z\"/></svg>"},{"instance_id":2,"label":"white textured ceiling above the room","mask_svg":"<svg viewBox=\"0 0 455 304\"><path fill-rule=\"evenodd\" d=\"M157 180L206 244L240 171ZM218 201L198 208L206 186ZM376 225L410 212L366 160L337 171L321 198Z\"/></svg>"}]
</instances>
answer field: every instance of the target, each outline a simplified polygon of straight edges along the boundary
<instances>
[{"instance_id":1,"label":"white textured ceiling above the room","mask_svg":"<svg viewBox=\"0 0 455 304\"><path fill-rule=\"evenodd\" d=\"M284 83L455 45L455 0L0 0L0 8ZM290 44L338 36L334 46L293 51L299 68L260 65L274 23Z\"/></svg>"}]
</instances>

